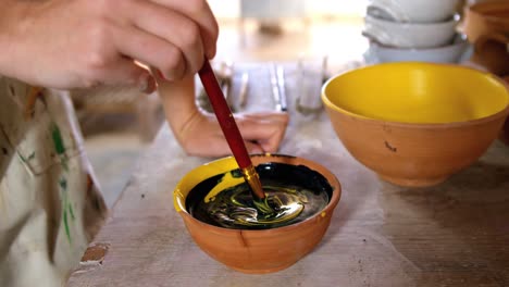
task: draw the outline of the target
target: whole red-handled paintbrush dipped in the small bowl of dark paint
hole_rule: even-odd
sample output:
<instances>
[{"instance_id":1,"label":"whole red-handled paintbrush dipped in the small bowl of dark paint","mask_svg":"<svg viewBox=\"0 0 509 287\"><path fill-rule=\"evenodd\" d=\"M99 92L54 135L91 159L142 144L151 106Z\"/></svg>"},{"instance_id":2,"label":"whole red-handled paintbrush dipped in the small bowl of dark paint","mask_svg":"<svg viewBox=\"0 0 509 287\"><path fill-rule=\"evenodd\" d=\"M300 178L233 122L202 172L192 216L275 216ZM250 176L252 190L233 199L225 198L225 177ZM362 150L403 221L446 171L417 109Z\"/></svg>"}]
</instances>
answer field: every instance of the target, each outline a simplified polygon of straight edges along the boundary
<instances>
[{"instance_id":1,"label":"whole red-handled paintbrush dipped in the small bowl of dark paint","mask_svg":"<svg viewBox=\"0 0 509 287\"><path fill-rule=\"evenodd\" d=\"M203 88L209 96L210 103L214 110L215 116L218 117L224 137L228 142L229 149L240 167L244 178L248 183L249 187L251 187L253 199L256 199L254 201L257 201L257 199L260 201L265 200L265 192L263 192L260 177L252 165L251 158L247 152L246 145L244 144L240 132L238 130L237 123L235 122L214 72L207 59L203 66L198 72L198 75L200 76ZM266 204L264 205L266 207ZM263 211L263 207L259 208L262 208Z\"/></svg>"}]
</instances>

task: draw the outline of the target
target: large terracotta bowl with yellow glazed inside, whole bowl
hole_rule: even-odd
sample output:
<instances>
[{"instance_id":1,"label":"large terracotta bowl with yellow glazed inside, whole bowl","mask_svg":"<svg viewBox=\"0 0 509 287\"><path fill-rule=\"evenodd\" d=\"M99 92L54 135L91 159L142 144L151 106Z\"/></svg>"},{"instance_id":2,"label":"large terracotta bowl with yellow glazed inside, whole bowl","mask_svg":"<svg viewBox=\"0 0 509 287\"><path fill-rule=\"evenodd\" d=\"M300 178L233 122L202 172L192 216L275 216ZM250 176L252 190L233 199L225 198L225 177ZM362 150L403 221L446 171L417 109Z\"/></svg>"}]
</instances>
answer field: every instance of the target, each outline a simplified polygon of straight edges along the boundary
<instances>
[{"instance_id":1,"label":"large terracotta bowl with yellow glazed inside, whole bowl","mask_svg":"<svg viewBox=\"0 0 509 287\"><path fill-rule=\"evenodd\" d=\"M493 74L422 62L332 77L322 100L348 151L401 186L435 185L472 164L509 113L507 86Z\"/></svg>"}]
</instances>

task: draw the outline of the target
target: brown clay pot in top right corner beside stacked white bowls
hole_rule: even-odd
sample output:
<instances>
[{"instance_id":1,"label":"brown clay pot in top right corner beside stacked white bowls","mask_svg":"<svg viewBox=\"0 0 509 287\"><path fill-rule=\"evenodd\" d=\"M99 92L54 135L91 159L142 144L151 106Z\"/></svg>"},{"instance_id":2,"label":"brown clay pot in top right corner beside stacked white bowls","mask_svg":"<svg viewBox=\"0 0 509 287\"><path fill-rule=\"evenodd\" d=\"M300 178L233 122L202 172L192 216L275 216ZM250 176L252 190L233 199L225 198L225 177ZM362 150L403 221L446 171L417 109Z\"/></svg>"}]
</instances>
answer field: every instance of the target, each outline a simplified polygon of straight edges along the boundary
<instances>
[{"instance_id":1,"label":"brown clay pot in top right corner beside stacked white bowls","mask_svg":"<svg viewBox=\"0 0 509 287\"><path fill-rule=\"evenodd\" d=\"M465 8L463 30L474 43L479 37L509 32L509 2L485 1Z\"/></svg>"}]
</instances>

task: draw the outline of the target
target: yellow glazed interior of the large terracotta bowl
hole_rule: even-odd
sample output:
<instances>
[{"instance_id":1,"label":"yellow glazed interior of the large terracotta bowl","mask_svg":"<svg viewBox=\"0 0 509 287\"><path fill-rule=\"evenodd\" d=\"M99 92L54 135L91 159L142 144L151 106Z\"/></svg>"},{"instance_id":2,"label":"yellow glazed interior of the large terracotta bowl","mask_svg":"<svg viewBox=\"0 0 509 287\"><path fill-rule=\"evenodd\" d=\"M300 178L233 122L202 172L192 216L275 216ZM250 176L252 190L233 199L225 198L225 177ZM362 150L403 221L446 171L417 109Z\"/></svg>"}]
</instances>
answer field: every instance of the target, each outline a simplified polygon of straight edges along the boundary
<instances>
[{"instance_id":1,"label":"yellow glazed interior of the large terracotta bowl","mask_svg":"<svg viewBox=\"0 0 509 287\"><path fill-rule=\"evenodd\" d=\"M400 123L483 118L508 105L506 87L488 73L454 65L387 63L331 79L324 103L342 113Z\"/></svg>"}]
</instances>

